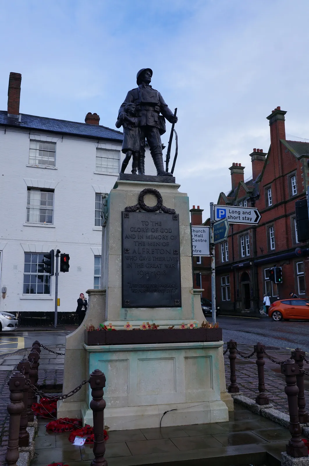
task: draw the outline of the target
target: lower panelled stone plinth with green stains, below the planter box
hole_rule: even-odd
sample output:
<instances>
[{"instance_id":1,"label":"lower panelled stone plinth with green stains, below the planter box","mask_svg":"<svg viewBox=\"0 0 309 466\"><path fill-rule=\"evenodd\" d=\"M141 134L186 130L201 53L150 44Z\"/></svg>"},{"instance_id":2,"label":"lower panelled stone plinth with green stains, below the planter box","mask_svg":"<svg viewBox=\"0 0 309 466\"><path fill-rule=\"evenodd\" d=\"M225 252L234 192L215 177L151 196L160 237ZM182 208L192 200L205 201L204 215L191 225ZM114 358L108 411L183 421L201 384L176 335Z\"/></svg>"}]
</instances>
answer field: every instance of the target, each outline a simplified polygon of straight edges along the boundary
<instances>
[{"instance_id":1,"label":"lower panelled stone plinth with green stains, below the planter box","mask_svg":"<svg viewBox=\"0 0 309 466\"><path fill-rule=\"evenodd\" d=\"M173 331L173 330L171 330ZM194 330L192 330L194 332ZM87 346L88 371L106 376L105 424L111 430L228 421L220 397L223 342ZM82 404L92 425L91 401Z\"/></svg>"}]
</instances>

